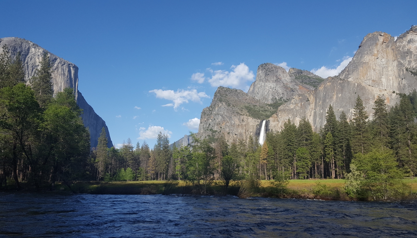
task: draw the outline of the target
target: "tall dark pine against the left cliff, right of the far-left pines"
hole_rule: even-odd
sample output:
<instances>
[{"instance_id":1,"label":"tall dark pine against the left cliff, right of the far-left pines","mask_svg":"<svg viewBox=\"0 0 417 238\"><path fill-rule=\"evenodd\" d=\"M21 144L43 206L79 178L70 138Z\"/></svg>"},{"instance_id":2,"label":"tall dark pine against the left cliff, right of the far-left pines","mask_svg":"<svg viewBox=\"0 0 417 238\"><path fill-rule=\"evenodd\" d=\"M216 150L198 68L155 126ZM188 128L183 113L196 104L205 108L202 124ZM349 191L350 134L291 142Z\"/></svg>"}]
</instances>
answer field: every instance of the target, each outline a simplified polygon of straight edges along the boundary
<instances>
[{"instance_id":1,"label":"tall dark pine against the left cliff, right of the far-left pines","mask_svg":"<svg viewBox=\"0 0 417 238\"><path fill-rule=\"evenodd\" d=\"M31 79L36 100L38 100L41 108L48 105L53 96L51 68L49 55L43 53L42 60L40 61L40 68L36 70L36 76Z\"/></svg>"}]
</instances>

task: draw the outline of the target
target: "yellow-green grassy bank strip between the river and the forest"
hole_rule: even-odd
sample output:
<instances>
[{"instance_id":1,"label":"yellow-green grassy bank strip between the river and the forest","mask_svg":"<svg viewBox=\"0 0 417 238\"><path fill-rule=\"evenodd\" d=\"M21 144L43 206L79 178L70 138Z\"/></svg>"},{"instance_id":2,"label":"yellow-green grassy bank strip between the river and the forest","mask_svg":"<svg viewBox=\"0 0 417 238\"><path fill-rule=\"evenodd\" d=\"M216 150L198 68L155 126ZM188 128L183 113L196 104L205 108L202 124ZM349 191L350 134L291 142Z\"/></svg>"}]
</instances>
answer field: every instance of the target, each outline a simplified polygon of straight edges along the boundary
<instances>
[{"instance_id":1,"label":"yellow-green grassy bank strip between the river and the forest","mask_svg":"<svg viewBox=\"0 0 417 238\"><path fill-rule=\"evenodd\" d=\"M413 193L417 192L417 179L404 178L404 182L410 185ZM320 179L320 180L289 180L286 188L277 191L270 181L261 180L260 186L251 189L247 196L277 197L277 198L304 198L324 200L352 200L344 191L344 179ZM411 187L412 185L412 187ZM227 190L221 181L213 181L206 188L205 193L211 195L240 195L241 183L232 182ZM90 193L90 194L179 194L179 195L201 195L202 187L191 185L184 181L80 181L74 183L71 188L63 184L55 186L58 192L69 193ZM10 184L9 190L13 190ZM25 190L25 189L24 189ZM47 191L48 186L43 187Z\"/></svg>"}]
</instances>

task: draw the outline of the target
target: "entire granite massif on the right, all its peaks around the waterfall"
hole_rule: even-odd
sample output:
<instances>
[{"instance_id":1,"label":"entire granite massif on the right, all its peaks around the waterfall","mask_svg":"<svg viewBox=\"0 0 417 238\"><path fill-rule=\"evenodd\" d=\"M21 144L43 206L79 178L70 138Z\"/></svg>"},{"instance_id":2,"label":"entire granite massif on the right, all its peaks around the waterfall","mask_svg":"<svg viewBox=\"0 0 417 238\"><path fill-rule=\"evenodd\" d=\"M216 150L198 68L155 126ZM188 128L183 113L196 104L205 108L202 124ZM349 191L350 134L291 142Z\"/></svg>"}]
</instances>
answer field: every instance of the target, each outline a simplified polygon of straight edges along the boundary
<instances>
[{"instance_id":1,"label":"entire granite massif on the right, all its peaks around the waterfall","mask_svg":"<svg viewBox=\"0 0 417 238\"><path fill-rule=\"evenodd\" d=\"M204 138L215 132L223 134L229 142L247 140L249 135L259 136L262 120L266 120L268 131L281 130L288 119L298 125L303 117L318 131L326 123L330 104L337 117L344 111L351 120L359 95L372 119L378 95L383 95L390 107L399 102L396 93L410 93L414 89L417 89L417 26L396 40L387 33L369 33L352 61L337 76L323 79L306 70L291 68L286 72L265 63L259 65L256 80L247 94L219 87L211 105L201 113L197 135ZM268 117L271 111L275 113Z\"/></svg>"}]
</instances>

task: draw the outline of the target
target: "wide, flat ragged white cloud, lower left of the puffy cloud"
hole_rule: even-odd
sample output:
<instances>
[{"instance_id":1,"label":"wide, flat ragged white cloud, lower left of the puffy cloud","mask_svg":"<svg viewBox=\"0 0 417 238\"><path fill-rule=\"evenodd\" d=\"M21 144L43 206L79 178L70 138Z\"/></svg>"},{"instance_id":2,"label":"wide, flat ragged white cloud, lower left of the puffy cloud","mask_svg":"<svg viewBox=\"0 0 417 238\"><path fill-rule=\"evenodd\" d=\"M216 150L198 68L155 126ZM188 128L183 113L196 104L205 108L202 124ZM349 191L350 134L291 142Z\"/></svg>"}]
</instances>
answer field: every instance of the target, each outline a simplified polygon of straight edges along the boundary
<instances>
[{"instance_id":1,"label":"wide, flat ragged white cloud, lower left of the puffy cloud","mask_svg":"<svg viewBox=\"0 0 417 238\"><path fill-rule=\"evenodd\" d=\"M183 104L188 103L188 100L191 100L196 103L201 103L201 98L210 98L206 93L200 92L198 93L196 89L191 90L177 90L174 92L173 90L162 90L162 89L155 89L149 91L149 93L155 93L156 98L163 98L167 100L171 100L173 103L168 103L163 106L174 106L174 110Z\"/></svg>"}]
</instances>

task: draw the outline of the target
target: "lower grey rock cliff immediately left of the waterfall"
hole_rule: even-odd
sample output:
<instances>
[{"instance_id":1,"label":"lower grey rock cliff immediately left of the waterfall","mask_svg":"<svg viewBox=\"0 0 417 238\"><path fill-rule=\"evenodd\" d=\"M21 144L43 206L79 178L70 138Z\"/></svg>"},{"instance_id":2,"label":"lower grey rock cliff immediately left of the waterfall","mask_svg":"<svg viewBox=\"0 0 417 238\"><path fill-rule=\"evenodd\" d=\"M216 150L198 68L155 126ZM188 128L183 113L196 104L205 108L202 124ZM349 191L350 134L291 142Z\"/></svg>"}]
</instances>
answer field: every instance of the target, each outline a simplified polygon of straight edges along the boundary
<instances>
[{"instance_id":1,"label":"lower grey rock cliff immediately left of the waterfall","mask_svg":"<svg viewBox=\"0 0 417 238\"><path fill-rule=\"evenodd\" d=\"M211 105L201 112L197 136L206 138L217 133L223 134L229 142L239 138L247 141L250 135L256 136L260 121L275 111L242 90L219 87Z\"/></svg>"}]
</instances>

